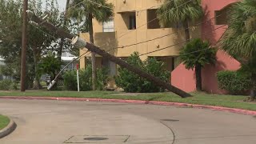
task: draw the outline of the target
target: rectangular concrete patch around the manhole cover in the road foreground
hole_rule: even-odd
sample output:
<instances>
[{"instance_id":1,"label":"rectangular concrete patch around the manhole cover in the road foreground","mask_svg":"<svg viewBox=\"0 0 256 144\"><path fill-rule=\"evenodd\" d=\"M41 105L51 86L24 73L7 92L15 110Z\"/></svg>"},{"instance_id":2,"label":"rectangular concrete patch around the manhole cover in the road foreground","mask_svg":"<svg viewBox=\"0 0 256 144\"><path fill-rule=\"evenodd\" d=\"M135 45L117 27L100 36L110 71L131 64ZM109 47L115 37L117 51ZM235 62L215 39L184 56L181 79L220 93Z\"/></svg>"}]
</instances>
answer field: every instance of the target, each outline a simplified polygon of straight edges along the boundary
<instances>
[{"instance_id":1,"label":"rectangular concrete patch around the manhole cover in the road foreground","mask_svg":"<svg viewBox=\"0 0 256 144\"><path fill-rule=\"evenodd\" d=\"M127 142L129 135L76 135L64 143L122 143Z\"/></svg>"}]
</instances>

